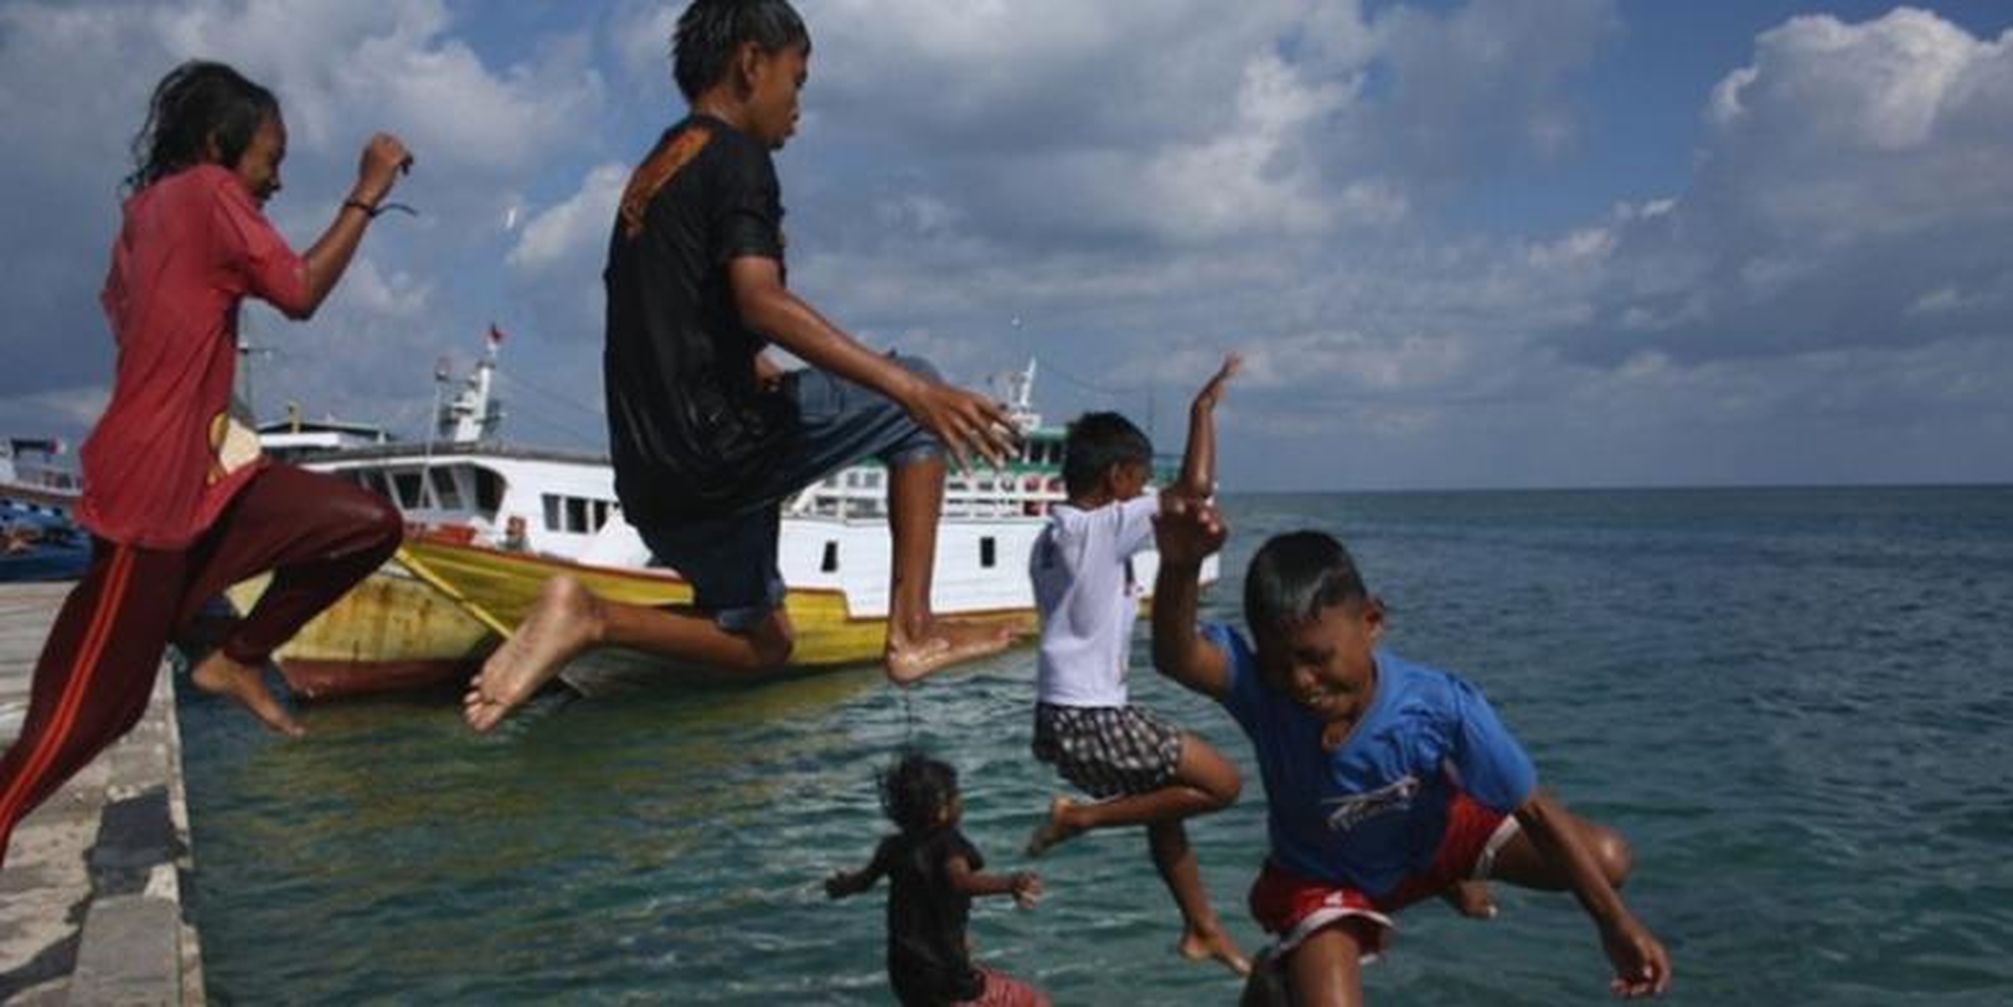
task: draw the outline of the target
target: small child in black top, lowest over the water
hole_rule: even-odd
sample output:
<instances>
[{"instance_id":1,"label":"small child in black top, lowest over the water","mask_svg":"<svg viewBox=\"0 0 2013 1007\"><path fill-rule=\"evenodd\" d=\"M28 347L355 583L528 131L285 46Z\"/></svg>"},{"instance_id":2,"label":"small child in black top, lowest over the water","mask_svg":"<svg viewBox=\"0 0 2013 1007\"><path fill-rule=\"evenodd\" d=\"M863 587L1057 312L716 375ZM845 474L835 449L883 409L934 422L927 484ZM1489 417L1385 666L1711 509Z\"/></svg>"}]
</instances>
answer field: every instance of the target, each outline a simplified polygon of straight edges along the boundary
<instances>
[{"instance_id":1,"label":"small child in black top, lowest over the water","mask_svg":"<svg viewBox=\"0 0 2013 1007\"><path fill-rule=\"evenodd\" d=\"M904 1007L1047 1005L1045 993L970 959L964 924L972 896L1011 894L1021 908L1035 908L1041 878L1031 870L978 874L984 858L958 832L964 812L958 771L910 753L882 777L880 789L882 810L902 832L882 840L864 870L827 878L825 894L860 894L888 876L888 983L896 997Z\"/></svg>"}]
</instances>

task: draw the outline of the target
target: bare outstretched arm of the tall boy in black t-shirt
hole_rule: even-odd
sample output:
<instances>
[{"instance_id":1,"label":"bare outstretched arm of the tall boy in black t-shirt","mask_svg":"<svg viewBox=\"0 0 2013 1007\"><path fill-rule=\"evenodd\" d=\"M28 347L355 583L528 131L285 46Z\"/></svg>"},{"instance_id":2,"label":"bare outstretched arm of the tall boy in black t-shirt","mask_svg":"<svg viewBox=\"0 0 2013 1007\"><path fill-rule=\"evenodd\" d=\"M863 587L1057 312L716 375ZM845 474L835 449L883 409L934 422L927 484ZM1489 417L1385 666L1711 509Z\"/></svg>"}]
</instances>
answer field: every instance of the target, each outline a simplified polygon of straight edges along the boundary
<instances>
[{"instance_id":1,"label":"bare outstretched arm of the tall boy in black t-shirt","mask_svg":"<svg viewBox=\"0 0 2013 1007\"><path fill-rule=\"evenodd\" d=\"M960 467L970 467L972 455L982 455L992 465L1013 455L1019 433L1004 407L984 395L914 375L862 346L783 286L777 260L739 256L727 264L727 280L735 290L735 310L743 324L811 367L894 399L916 417L916 423L944 441L944 449Z\"/></svg>"}]
</instances>

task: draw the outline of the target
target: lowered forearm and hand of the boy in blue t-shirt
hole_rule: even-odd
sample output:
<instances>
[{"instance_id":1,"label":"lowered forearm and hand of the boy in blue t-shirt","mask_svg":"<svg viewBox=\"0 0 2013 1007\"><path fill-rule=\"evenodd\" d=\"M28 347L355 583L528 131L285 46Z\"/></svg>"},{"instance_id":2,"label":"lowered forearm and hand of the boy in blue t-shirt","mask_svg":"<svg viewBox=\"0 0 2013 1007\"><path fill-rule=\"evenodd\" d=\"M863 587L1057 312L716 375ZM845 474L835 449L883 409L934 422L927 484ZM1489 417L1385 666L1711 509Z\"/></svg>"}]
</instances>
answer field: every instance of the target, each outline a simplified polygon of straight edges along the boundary
<instances>
[{"instance_id":1,"label":"lowered forearm and hand of the boy in blue t-shirt","mask_svg":"<svg viewBox=\"0 0 2013 1007\"><path fill-rule=\"evenodd\" d=\"M1580 906L1600 928L1600 947L1614 965L1610 989L1618 997L1653 997L1671 987L1671 953L1665 951L1657 934L1649 932L1620 892L1608 884L1592 850L1580 840L1570 816L1544 789L1516 810L1518 826L1530 836L1532 846L1564 874L1566 886Z\"/></svg>"}]
</instances>

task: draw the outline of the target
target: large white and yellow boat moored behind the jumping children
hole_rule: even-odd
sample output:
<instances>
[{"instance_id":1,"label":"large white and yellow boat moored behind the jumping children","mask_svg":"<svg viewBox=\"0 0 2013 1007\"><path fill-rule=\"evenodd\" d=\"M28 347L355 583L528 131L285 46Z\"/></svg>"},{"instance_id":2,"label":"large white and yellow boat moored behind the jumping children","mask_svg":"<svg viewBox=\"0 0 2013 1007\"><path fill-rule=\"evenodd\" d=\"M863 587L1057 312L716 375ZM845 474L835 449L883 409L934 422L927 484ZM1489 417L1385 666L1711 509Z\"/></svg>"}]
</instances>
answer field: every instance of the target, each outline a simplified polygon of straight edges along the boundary
<instances>
[{"instance_id":1,"label":"large white and yellow boat moored behind the jumping children","mask_svg":"<svg viewBox=\"0 0 2013 1007\"><path fill-rule=\"evenodd\" d=\"M342 475L407 516L407 544L382 570L302 628L276 655L304 697L413 689L473 673L515 626L539 586L568 574L596 594L636 604L688 604L690 584L654 566L622 520L614 471L600 455L493 439L497 342L439 413L439 441L368 443L306 453L296 463ZM441 375L437 375L441 377ZM1035 365L1015 375L1009 405L1025 435L1004 467L950 473L938 526L932 608L1035 626L1027 558L1049 508L1063 501L1063 429L1031 407ZM298 433L298 431L296 431ZM793 671L878 661L888 630L888 471L866 461L783 503L777 562L797 630ZM1157 558L1135 560L1141 584ZM1214 580L1214 560L1204 580ZM264 582L234 588L246 606ZM703 667L604 649L564 679L604 691L634 677L713 681ZM745 677L739 677L745 681Z\"/></svg>"}]
</instances>

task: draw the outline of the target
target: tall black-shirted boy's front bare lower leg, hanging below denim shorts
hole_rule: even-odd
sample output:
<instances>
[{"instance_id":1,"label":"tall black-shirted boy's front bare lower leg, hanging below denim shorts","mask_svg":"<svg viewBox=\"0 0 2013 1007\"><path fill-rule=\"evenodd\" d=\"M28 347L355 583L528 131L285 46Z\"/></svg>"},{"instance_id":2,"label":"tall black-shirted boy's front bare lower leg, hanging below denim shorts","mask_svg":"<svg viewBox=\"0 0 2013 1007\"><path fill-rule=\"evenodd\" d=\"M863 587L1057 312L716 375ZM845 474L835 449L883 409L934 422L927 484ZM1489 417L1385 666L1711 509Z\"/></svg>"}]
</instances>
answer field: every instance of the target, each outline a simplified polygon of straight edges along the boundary
<instances>
[{"instance_id":1,"label":"tall black-shirted boy's front bare lower leg, hanging below denim shorts","mask_svg":"<svg viewBox=\"0 0 2013 1007\"><path fill-rule=\"evenodd\" d=\"M930 576L936 568L936 524L944 506L944 459L910 461L888 481L888 524L894 534L894 582L888 596L888 679L912 685L932 671L996 655L1013 644L1006 626L936 618Z\"/></svg>"}]
</instances>

